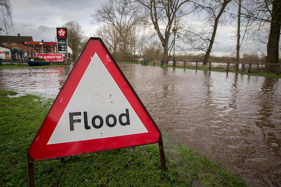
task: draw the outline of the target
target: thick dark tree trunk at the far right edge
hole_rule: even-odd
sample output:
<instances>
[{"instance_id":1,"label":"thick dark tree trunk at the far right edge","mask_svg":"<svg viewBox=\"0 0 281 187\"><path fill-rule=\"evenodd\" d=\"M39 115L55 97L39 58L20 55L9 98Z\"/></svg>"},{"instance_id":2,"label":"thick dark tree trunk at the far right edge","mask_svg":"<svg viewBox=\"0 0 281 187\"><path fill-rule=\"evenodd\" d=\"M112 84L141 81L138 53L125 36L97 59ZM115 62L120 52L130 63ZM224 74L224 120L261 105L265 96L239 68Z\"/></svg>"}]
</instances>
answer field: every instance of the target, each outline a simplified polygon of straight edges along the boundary
<instances>
[{"instance_id":1,"label":"thick dark tree trunk at the far right edge","mask_svg":"<svg viewBox=\"0 0 281 187\"><path fill-rule=\"evenodd\" d=\"M279 63L279 38L281 21L281 0L274 0L272 6L272 17L270 24L270 33L267 44L266 63ZM268 71L276 71L276 66L266 66Z\"/></svg>"}]
</instances>

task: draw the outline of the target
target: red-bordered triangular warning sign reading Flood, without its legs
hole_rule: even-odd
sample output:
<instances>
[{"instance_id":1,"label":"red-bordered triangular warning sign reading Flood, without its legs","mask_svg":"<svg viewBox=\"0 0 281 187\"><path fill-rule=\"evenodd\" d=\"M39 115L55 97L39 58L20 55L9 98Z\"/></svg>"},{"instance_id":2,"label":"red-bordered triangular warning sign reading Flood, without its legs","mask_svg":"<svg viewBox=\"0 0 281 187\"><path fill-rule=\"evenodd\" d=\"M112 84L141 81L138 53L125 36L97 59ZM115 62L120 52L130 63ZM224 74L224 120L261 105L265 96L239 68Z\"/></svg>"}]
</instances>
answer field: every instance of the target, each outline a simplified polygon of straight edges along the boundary
<instances>
[{"instance_id":1,"label":"red-bordered triangular warning sign reading Flood, without its legs","mask_svg":"<svg viewBox=\"0 0 281 187\"><path fill-rule=\"evenodd\" d=\"M90 38L28 153L34 161L162 142L100 38Z\"/></svg>"}]
</instances>

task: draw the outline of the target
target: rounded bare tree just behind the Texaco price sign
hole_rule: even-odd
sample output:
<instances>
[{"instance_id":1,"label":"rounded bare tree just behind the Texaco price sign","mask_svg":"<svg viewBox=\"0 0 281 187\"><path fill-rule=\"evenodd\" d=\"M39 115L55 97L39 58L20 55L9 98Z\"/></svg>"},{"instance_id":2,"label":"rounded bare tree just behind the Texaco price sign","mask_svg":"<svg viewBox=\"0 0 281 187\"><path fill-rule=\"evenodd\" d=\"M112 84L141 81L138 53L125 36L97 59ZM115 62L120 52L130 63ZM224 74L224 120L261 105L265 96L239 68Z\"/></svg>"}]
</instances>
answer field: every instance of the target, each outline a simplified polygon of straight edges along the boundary
<instances>
[{"instance_id":1,"label":"rounded bare tree just behind the Texaco price sign","mask_svg":"<svg viewBox=\"0 0 281 187\"><path fill-rule=\"evenodd\" d=\"M77 58L84 42L84 35L81 26L76 21L69 21L62 25L67 28L67 40L72 43L73 58Z\"/></svg>"}]
</instances>

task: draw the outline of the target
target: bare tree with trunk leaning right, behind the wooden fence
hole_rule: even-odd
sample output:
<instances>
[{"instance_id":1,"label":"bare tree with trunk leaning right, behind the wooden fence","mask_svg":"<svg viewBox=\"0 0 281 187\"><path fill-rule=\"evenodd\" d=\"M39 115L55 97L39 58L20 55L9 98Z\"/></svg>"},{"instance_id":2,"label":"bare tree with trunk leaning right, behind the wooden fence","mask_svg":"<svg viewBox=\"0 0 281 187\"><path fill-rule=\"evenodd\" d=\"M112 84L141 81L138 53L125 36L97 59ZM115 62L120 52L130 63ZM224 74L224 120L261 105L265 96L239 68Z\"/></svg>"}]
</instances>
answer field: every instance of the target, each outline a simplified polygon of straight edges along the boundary
<instances>
[{"instance_id":1,"label":"bare tree with trunk leaning right, behind the wooden fence","mask_svg":"<svg viewBox=\"0 0 281 187\"><path fill-rule=\"evenodd\" d=\"M247 1L244 1L245 3ZM194 23L184 27L185 32L180 33L179 40L185 44L181 46L182 50L203 51L205 55L202 61L207 62L210 60L217 29L222 26L236 26L233 25L233 21L237 22L238 4L235 0L196 1L199 8L196 9L197 16L194 15L193 17L198 20L193 18ZM243 41L247 39L249 29L253 29L252 22L253 20L246 17L241 19L241 39L239 45L237 45L239 48ZM226 40L233 39L227 38ZM234 40L237 40L237 37Z\"/></svg>"}]
</instances>

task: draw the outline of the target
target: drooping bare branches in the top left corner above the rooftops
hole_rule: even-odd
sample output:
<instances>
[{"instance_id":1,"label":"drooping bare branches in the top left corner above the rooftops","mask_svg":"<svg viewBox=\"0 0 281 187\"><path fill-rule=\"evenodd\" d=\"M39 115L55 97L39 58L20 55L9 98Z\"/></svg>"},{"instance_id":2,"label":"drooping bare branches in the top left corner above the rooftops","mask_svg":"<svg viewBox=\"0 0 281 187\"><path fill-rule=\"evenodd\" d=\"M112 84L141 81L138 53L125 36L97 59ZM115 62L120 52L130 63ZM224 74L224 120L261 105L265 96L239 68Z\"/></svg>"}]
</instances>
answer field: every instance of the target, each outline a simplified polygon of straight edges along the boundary
<instances>
[{"instance_id":1,"label":"drooping bare branches in the top left corner above the rooftops","mask_svg":"<svg viewBox=\"0 0 281 187\"><path fill-rule=\"evenodd\" d=\"M0 0L0 15L0 33L2 31L8 34L7 31L13 26L12 5L9 0Z\"/></svg>"}]
</instances>

